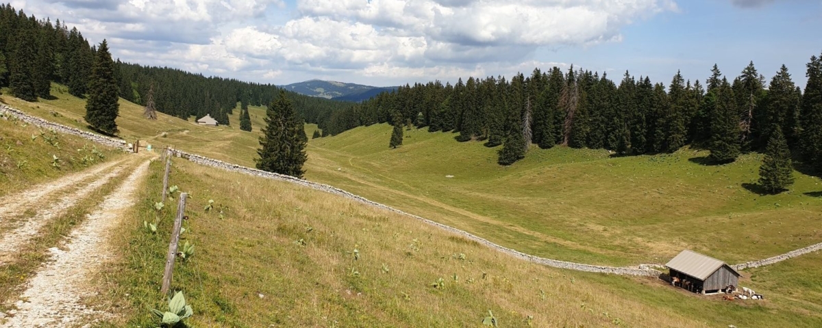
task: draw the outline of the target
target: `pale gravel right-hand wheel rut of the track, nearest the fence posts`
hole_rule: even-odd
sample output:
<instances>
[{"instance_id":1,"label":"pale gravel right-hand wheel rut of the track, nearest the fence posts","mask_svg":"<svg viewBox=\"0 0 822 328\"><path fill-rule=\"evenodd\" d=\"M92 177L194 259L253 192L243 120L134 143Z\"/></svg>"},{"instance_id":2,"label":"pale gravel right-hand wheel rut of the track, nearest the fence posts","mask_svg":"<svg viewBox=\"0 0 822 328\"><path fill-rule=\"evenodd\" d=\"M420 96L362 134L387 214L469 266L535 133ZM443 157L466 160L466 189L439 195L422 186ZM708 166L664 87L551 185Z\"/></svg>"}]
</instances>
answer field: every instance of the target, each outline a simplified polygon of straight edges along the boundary
<instances>
[{"instance_id":1,"label":"pale gravel right-hand wheel rut of the track, nearest the fence posts","mask_svg":"<svg viewBox=\"0 0 822 328\"><path fill-rule=\"evenodd\" d=\"M88 317L99 317L99 313L85 307L81 299L94 293L89 288L90 274L113 258L107 242L109 231L122 222L124 212L135 203L136 191L148 171L148 164L145 161L138 166L126 166L134 168L132 173L72 231L60 248L48 249L52 260L44 263L30 279L15 303L16 310L8 313L10 317L0 327L81 326ZM105 179L115 175L109 172L89 186L102 186Z\"/></svg>"}]
</instances>

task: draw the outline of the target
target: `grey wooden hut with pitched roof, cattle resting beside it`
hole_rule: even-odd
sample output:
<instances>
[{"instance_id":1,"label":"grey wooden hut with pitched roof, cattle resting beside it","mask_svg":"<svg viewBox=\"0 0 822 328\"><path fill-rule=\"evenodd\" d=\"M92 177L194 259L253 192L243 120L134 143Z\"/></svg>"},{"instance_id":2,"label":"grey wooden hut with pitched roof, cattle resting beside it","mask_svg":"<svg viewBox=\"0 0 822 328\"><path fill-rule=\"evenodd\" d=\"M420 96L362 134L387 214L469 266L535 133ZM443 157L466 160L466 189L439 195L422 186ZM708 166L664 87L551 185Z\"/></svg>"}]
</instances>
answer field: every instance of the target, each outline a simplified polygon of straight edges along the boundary
<instances>
[{"instance_id":1,"label":"grey wooden hut with pitched roof, cattle resting beside it","mask_svg":"<svg viewBox=\"0 0 822 328\"><path fill-rule=\"evenodd\" d=\"M716 293L728 286L737 288L739 272L727 263L704 256L688 249L665 265L671 271L671 278L681 280L681 286L693 292Z\"/></svg>"}]
</instances>

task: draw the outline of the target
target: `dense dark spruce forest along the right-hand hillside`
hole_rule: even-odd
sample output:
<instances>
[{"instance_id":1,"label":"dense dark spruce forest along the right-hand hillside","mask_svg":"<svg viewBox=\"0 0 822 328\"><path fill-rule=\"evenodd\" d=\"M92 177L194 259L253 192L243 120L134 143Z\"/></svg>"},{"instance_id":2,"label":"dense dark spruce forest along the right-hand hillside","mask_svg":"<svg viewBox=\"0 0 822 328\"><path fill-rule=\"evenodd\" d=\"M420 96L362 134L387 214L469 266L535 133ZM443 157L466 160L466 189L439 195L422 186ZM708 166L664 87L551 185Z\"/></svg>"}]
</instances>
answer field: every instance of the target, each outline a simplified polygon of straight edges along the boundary
<instances>
[{"instance_id":1,"label":"dense dark spruce forest along the right-hand hillside","mask_svg":"<svg viewBox=\"0 0 822 328\"><path fill-rule=\"evenodd\" d=\"M565 72L536 69L510 81L469 77L453 86L407 84L335 112L323 132L385 122L416 125L459 133L459 141L478 140L489 147L514 140L510 147L522 151L512 156L519 159L530 144L605 148L621 155L672 153L686 144L756 151L778 126L806 160L822 159L820 58L811 57L807 65L805 93L785 66L769 84L753 62L730 81L717 66L711 72L704 84L691 83L679 72L662 84L627 71L617 84L605 74L573 66Z\"/></svg>"}]
</instances>

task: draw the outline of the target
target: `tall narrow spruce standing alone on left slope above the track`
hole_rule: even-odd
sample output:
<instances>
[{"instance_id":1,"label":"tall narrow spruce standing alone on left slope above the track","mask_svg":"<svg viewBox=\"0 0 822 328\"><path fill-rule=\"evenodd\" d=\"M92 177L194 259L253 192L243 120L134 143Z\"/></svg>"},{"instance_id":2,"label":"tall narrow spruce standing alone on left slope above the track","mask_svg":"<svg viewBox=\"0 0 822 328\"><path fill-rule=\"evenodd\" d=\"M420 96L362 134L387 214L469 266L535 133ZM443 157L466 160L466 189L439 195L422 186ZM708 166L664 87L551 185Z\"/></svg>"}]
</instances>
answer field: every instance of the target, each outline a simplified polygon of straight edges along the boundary
<instances>
[{"instance_id":1,"label":"tall narrow spruce standing alone on left slope above the track","mask_svg":"<svg viewBox=\"0 0 822 328\"><path fill-rule=\"evenodd\" d=\"M85 121L95 130L116 134L114 121L120 112L119 90L114 77L114 61L109 53L109 43L103 40L91 69L89 99L85 103Z\"/></svg>"}]
</instances>

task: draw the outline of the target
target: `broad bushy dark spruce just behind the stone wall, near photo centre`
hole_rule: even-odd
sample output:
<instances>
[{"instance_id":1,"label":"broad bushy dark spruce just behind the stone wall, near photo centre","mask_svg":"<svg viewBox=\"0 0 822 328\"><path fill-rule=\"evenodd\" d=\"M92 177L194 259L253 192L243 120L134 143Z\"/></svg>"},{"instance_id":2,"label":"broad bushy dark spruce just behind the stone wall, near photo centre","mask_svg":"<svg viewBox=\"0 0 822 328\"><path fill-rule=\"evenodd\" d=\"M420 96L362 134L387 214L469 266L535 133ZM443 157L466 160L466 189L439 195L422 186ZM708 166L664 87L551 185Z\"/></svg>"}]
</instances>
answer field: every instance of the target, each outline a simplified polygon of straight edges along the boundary
<instances>
[{"instance_id":1,"label":"broad bushy dark spruce just behind the stone wall, near photo centre","mask_svg":"<svg viewBox=\"0 0 822 328\"><path fill-rule=\"evenodd\" d=\"M306 143L302 141L305 130L283 89L266 108L266 128L261 132L256 168L302 178L302 164L307 160Z\"/></svg>"}]
</instances>

